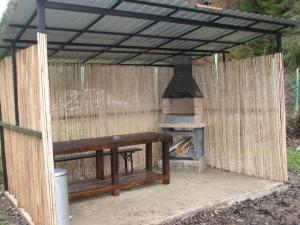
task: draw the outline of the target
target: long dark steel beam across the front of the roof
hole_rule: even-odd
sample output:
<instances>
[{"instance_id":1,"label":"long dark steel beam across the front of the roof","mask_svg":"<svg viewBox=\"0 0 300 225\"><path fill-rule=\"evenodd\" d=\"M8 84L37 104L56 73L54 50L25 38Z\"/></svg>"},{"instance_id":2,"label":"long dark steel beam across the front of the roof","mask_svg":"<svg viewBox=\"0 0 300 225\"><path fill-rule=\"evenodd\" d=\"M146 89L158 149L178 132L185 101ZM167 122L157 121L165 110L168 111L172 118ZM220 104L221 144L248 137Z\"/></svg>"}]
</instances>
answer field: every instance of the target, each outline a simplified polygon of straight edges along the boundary
<instances>
[{"instance_id":1,"label":"long dark steel beam across the front of the roof","mask_svg":"<svg viewBox=\"0 0 300 225\"><path fill-rule=\"evenodd\" d=\"M163 21L163 22L195 25L195 26L206 26L206 27L214 27L214 28L221 28L221 29L262 33L262 34L276 34L276 32L277 32L277 31L269 31L269 30L257 29L257 28L249 28L249 27L241 27L241 26L228 25L228 24L212 23L212 22L207 22L207 21L197 21L197 20L191 20L191 19L166 17L166 16L160 16L160 15L138 13L138 12L128 12L128 11L116 10L116 9L111 10L111 9L100 8L100 7L90 7L90 6L66 4L66 3L59 3L59 2L46 1L45 5L46 5L46 8L56 9L56 10L85 12L85 13L91 13L91 14L103 14L103 15L120 16L120 17L127 17L127 18L147 19L147 20L153 20L153 21Z\"/></svg>"}]
</instances>

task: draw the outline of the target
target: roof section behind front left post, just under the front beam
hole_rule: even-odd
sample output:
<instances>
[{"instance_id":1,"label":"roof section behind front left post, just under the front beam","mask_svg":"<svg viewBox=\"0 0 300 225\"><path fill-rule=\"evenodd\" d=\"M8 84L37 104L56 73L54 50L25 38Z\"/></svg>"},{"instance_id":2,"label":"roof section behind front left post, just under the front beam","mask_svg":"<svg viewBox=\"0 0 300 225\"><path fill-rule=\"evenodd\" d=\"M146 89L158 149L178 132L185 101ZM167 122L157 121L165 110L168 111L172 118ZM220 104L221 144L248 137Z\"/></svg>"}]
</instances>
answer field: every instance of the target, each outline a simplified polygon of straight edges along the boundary
<instances>
[{"instance_id":1,"label":"roof section behind front left post, just under the front beam","mask_svg":"<svg viewBox=\"0 0 300 225\"><path fill-rule=\"evenodd\" d=\"M46 24L48 27L82 30L98 16L100 15L47 9ZM35 18L32 25L37 26L36 20L37 19Z\"/></svg>"}]
</instances>

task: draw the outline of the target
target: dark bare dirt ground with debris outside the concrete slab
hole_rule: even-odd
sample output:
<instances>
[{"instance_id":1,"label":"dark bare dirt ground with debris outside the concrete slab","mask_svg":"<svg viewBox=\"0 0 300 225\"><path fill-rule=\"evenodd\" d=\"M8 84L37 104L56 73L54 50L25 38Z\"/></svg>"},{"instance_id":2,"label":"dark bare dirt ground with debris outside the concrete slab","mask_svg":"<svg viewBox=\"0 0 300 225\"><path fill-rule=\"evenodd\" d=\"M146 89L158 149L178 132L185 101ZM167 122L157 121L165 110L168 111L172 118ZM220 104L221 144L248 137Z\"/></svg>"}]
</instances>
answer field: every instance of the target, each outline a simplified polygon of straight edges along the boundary
<instances>
[{"instance_id":1,"label":"dark bare dirt ground with debris outside the concrete slab","mask_svg":"<svg viewBox=\"0 0 300 225\"><path fill-rule=\"evenodd\" d=\"M226 209L202 211L165 225L300 225L300 173L290 173L290 183L286 192L246 200ZM27 223L1 195L0 225L18 224Z\"/></svg>"}]
</instances>

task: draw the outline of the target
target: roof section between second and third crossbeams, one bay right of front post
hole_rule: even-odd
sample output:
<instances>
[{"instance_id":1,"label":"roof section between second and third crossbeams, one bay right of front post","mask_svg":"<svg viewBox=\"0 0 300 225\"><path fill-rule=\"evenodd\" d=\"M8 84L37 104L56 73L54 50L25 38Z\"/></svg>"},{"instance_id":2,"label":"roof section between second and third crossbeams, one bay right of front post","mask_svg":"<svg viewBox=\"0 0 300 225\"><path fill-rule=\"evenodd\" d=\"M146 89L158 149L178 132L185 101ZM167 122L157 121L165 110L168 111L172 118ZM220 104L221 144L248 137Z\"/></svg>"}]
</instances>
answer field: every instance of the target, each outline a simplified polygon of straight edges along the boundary
<instances>
[{"instance_id":1,"label":"roof section between second and third crossbeams, one bay right of front post","mask_svg":"<svg viewBox=\"0 0 300 225\"><path fill-rule=\"evenodd\" d=\"M75 39L74 43L113 45L123 40L125 37L126 36L122 35L83 33Z\"/></svg>"}]
</instances>

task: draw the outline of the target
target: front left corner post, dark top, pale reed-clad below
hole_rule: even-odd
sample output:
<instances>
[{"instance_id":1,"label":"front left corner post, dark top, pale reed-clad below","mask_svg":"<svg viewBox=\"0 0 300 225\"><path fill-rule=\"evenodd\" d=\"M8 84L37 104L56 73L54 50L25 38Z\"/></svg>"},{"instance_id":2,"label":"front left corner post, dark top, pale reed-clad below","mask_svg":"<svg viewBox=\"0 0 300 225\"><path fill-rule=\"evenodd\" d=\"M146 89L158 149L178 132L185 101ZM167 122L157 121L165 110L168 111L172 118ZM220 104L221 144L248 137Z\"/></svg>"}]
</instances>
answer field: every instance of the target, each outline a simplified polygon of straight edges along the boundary
<instances>
[{"instance_id":1,"label":"front left corner post, dark top, pale reed-clad below","mask_svg":"<svg viewBox=\"0 0 300 225\"><path fill-rule=\"evenodd\" d=\"M52 144L52 127L50 114L50 91L48 76L48 52L47 52L47 34L46 34L46 16L45 16L45 0L37 0L37 44L38 44L38 63L40 74L40 105L41 105L41 128L43 137L43 160L44 168L44 185L45 199L48 204L43 207L48 208L49 218L44 224L56 225L56 205L55 205L55 180L54 180L54 158Z\"/></svg>"}]
</instances>

